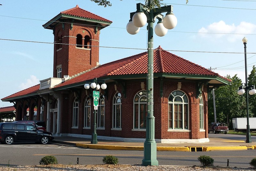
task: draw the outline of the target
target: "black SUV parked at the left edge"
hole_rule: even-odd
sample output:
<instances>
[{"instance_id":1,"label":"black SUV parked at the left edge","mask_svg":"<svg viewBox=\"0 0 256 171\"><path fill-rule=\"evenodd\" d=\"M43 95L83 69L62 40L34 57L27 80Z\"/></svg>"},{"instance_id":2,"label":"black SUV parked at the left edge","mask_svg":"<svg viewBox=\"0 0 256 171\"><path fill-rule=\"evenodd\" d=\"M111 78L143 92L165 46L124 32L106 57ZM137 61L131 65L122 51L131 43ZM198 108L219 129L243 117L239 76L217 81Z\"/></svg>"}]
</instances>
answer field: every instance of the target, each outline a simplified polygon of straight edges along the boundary
<instances>
[{"instance_id":1,"label":"black SUV parked at the left edge","mask_svg":"<svg viewBox=\"0 0 256 171\"><path fill-rule=\"evenodd\" d=\"M19 141L34 141L47 144L52 141L52 133L38 130L31 124L24 123L0 123L0 142L12 144Z\"/></svg>"}]
</instances>

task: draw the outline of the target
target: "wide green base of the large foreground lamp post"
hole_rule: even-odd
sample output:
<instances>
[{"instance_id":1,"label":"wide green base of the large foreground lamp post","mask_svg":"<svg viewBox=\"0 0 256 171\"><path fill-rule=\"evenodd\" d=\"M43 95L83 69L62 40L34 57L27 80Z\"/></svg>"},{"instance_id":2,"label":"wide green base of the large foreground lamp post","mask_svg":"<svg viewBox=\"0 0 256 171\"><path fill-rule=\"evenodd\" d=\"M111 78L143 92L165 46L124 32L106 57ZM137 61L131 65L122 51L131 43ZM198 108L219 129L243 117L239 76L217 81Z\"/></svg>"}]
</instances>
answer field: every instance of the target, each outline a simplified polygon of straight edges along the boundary
<instances>
[{"instance_id":1,"label":"wide green base of the large foreground lamp post","mask_svg":"<svg viewBox=\"0 0 256 171\"><path fill-rule=\"evenodd\" d=\"M158 166L156 160L156 141L146 140L144 142L144 159L142 160L143 166Z\"/></svg>"}]
</instances>

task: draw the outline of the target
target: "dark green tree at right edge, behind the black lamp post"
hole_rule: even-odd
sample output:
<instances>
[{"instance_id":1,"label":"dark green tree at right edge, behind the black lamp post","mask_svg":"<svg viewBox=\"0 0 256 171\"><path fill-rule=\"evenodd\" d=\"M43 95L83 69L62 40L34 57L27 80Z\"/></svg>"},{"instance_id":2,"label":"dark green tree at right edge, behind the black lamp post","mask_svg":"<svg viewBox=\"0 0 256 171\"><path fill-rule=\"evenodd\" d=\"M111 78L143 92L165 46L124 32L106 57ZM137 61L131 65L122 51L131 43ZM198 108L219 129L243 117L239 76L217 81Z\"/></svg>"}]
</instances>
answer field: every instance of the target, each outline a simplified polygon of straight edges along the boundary
<instances>
[{"instance_id":1,"label":"dark green tree at right edge, behind the black lamp post","mask_svg":"<svg viewBox=\"0 0 256 171\"><path fill-rule=\"evenodd\" d=\"M255 85L256 86L256 68L255 65L252 67L251 74L248 76L248 85ZM256 95L249 95L249 108L250 112L249 115L251 117L256 117Z\"/></svg>"}]
</instances>

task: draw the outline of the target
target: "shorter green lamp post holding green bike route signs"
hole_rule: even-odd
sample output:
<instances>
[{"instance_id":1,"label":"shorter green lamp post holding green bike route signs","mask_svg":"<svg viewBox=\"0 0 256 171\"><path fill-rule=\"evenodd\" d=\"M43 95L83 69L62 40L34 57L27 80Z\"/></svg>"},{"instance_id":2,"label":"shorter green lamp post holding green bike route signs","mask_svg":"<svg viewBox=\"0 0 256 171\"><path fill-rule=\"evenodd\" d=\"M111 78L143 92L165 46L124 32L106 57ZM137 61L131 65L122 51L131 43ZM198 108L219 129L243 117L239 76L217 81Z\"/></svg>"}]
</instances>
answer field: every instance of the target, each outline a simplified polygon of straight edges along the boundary
<instances>
[{"instance_id":1,"label":"shorter green lamp post holding green bike route signs","mask_svg":"<svg viewBox=\"0 0 256 171\"><path fill-rule=\"evenodd\" d=\"M100 82L100 80L98 80L98 81ZM84 88L86 90L88 90L90 87L94 91L100 90L100 88L105 90L107 88L107 85L105 84L105 82L103 82L101 85L99 85L97 83L97 78L95 78L95 79L93 79L93 82L91 84L88 84L88 83L84 84ZM97 94L97 92L96 92L96 94ZM97 97L94 97L94 95L93 95L93 101L94 101L94 103L93 103L93 106L94 106L94 124L93 124L93 133L92 133L91 144L98 144L97 133L96 133L96 126L97 126L96 125L96 111L98 110L98 107L95 106L95 101L98 102L99 101L99 97L100 97L100 93L99 92L98 92ZM95 98L97 98L97 99L95 99Z\"/></svg>"}]
</instances>

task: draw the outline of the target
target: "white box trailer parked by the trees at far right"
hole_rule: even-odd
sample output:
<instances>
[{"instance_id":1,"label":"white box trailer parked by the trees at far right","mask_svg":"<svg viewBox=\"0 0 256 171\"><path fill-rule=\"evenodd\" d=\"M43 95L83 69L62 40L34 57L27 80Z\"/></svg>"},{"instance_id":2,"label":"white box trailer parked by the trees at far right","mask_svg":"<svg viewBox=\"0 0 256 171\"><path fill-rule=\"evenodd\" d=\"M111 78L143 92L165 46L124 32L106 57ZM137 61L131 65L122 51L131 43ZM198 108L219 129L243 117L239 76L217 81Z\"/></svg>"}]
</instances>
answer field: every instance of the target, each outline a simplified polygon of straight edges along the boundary
<instances>
[{"instance_id":1,"label":"white box trailer parked by the trees at far right","mask_svg":"<svg viewBox=\"0 0 256 171\"><path fill-rule=\"evenodd\" d=\"M247 118L233 118L233 129L246 132ZM256 131L256 117L249 118L250 131Z\"/></svg>"}]
</instances>

